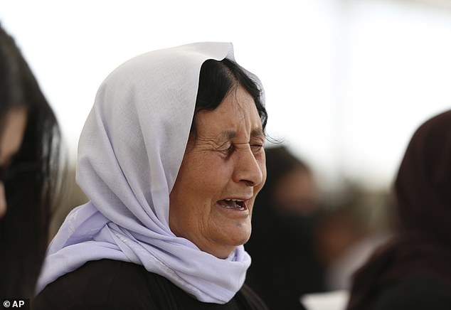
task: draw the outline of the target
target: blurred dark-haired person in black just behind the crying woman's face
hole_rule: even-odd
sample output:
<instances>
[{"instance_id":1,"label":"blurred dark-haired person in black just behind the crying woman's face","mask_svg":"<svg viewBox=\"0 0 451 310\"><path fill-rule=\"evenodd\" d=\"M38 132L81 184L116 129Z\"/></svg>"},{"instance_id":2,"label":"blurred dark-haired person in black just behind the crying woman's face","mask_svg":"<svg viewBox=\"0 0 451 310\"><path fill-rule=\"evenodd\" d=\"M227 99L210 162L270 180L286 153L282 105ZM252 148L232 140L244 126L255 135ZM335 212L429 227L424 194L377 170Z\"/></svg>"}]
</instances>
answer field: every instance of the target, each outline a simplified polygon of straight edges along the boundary
<instances>
[{"instance_id":1,"label":"blurred dark-haired person in black just behind the crying woman's face","mask_svg":"<svg viewBox=\"0 0 451 310\"><path fill-rule=\"evenodd\" d=\"M319 189L307 164L285 146L266 149L267 181L255 199L253 257L246 283L270 309L303 309L302 294L324 290L315 252Z\"/></svg>"}]
</instances>

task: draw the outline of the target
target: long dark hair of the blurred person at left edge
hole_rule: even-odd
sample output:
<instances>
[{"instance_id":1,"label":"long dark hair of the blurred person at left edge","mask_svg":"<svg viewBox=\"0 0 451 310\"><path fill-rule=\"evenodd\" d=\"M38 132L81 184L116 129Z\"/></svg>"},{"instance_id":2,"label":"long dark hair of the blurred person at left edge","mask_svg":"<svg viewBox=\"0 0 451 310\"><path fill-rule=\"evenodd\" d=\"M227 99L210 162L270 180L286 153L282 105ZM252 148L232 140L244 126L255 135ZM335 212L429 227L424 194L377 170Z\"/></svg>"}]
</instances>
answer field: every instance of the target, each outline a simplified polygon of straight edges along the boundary
<instances>
[{"instance_id":1,"label":"long dark hair of the blurred person at left edge","mask_svg":"<svg viewBox=\"0 0 451 310\"><path fill-rule=\"evenodd\" d=\"M18 107L26 109L28 119L21 148L3 180L8 206L0 219L0 296L4 298L33 296L59 182L55 176L60 167L60 131L14 39L0 26L0 124Z\"/></svg>"}]
</instances>

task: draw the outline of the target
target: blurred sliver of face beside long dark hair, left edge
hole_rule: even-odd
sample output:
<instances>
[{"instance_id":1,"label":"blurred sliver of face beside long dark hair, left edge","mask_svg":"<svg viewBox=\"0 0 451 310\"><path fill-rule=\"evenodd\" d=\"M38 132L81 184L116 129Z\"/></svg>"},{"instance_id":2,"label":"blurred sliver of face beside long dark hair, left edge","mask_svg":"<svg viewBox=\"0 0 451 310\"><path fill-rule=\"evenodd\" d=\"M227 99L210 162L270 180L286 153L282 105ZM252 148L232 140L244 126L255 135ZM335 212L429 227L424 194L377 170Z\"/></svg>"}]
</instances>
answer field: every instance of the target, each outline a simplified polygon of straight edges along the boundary
<instances>
[{"instance_id":1,"label":"blurred sliver of face beside long dark hair, left edge","mask_svg":"<svg viewBox=\"0 0 451 310\"><path fill-rule=\"evenodd\" d=\"M7 170L8 166L22 144L26 127L26 109L11 109L2 120L0 132L0 166ZM6 213L6 196L3 180L0 180L0 218Z\"/></svg>"}]
</instances>

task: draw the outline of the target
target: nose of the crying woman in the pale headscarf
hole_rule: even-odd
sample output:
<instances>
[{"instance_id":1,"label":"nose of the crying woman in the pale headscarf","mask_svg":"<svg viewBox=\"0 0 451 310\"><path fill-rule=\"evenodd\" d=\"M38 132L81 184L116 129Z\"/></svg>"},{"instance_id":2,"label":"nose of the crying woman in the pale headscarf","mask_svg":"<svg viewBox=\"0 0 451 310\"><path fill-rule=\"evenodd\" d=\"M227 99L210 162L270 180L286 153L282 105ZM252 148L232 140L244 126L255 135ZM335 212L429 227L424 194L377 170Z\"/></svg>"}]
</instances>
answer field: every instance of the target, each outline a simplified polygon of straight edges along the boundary
<instances>
[{"instance_id":1,"label":"nose of the crying woman in the pale headscarf","mask_svg":"<svg viewBox=\"0 0 451 310\"><path fill-rule=\"evenodd\" d=\"M258 186L263 181L263 171L252 149L248 147L239 151L240 156L235 167L235 182L243 181L249 186Z\"/></svg>"}]
</instances>

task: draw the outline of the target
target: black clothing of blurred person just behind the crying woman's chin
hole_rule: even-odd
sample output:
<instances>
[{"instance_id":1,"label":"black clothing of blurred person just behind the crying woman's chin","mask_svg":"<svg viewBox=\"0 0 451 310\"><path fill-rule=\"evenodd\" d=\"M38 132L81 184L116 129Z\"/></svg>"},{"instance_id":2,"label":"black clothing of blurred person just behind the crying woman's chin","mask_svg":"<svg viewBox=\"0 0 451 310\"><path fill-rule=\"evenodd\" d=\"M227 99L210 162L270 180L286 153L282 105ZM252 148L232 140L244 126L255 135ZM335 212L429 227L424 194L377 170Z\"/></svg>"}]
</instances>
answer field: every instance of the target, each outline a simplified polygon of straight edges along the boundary
<instances>
[{"instance_id":1,"label":"black clothing of blurred person just behind the crying woman's chin","mask_svg":"<svg viewBox=\"0 0 451 310\"><path fill-rule=\"evenodd\" d=\"M245 244L253 259L245 283L270 309L303 310L302 295L325 291L324 270L313 250L316 218L273 214L262 223L263 218L253 223Z\"/></svg>"}]
</instances>

